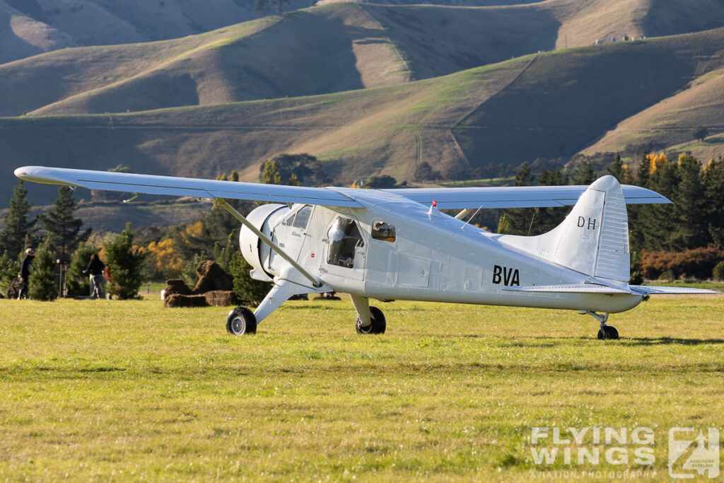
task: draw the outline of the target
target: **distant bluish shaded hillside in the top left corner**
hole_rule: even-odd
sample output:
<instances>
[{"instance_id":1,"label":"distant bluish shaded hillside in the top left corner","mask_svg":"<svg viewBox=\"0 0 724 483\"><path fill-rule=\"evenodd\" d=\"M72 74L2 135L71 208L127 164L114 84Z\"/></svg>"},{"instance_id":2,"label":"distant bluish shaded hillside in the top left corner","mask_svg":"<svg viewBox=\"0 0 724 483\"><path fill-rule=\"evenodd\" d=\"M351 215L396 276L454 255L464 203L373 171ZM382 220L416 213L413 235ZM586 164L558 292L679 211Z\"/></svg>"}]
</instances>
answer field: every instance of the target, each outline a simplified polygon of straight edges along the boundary
<instances>
[{"instance_id":1,"label":"distant bluish shaded hillside in the top left corner","mask_svg":"<svg viewBox=\"0 0 724 483\"><path fill-rule=\"evenodd\" d=\"M256 18L253 3L0 0L0 63L67 46L138 43L203 33ZM290 0L287 9L308 5L306 0Z\"/></svg>"}]
</instances>

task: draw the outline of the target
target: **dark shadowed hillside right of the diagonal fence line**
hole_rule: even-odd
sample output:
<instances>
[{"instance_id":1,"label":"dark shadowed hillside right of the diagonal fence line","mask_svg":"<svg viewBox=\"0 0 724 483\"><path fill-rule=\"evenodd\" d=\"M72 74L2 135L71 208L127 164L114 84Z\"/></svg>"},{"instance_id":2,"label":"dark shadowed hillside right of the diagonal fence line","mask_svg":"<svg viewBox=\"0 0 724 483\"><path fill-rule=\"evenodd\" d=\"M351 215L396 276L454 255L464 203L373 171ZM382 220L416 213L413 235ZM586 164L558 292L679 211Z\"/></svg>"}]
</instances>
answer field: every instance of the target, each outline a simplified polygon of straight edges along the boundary
<instances>
[{"instance_id":1,"label":"dark shadowed hillside right of the diagonal fence line","mask_svg":"<svg viewBox=\"0 0 724 483\"><path fill-rule=\"evenodd\" d=\"M468 160L571 156L618 122L723 67L723 33L712 30L539 56L453 133ZM702 96L720 98L723 86L706 83Z\"/></svg>"}]
</instances>

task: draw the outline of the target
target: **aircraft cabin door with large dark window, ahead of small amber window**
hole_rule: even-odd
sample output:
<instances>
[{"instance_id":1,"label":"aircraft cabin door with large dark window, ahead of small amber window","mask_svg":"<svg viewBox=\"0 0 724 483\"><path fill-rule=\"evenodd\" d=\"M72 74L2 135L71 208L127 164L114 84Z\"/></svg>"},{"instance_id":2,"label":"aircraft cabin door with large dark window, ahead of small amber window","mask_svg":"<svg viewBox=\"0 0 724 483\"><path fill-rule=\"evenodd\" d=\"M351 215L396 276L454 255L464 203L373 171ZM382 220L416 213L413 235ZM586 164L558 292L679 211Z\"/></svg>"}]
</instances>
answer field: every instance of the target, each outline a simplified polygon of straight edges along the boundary
<instances>
[{"instance_id":1,"label":"aircraft cabin door with large dark window, ahead of small amber window","mask_svg":"<svg viewBox=\"0 0 724 483\"><path fill-rule=\"evenodd\" d=\"M327 229L321 270L330 274L363 280L367 243L356 219L345 215L334 218Z\"/></svg>"}]
</instances>

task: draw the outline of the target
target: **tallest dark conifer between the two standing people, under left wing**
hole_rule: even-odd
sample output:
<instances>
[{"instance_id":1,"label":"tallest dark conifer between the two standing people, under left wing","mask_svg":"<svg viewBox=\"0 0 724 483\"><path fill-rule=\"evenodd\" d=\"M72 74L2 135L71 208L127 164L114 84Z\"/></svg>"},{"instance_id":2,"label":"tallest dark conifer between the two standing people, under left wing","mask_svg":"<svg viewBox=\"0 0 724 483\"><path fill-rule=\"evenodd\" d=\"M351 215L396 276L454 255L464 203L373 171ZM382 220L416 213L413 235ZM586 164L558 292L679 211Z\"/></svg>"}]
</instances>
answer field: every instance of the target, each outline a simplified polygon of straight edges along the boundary
<instances>
[{"instance_id":1,"label":"tallest dark conifer between the two standing people, under left wing","mask_svg":"<svg viewBox=\"0 0 724 483\"><path fill-rule=\"evenodd\" d=\"M70 259L70 254L75 251L78 244L88 240L90 228L83 232L83 220L73 217L78 205L73 198L72 190L62 186L58 190L58 199L55 207L38 218L41 226L48 232L51 240L51 247L54 248L60 259Z\"/></svg>"}]
</instances>

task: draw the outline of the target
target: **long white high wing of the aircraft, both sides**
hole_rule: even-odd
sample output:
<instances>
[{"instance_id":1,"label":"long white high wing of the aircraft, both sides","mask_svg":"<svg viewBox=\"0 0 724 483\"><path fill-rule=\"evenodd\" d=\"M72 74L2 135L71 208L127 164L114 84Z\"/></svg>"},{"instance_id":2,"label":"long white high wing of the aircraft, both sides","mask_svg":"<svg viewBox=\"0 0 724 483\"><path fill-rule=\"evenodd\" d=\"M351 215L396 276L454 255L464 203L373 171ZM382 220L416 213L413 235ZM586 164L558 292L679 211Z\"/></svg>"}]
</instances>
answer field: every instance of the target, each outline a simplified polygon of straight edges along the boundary
<instances>
[{"instance_id":1,"label":"long white high wing of the aircraft, both sides","mask_svg":"<svg viewBox=\"0 0 724 483\"><path fill-rule=\"evenodd\" d=\"M198 178L134 175L87 169L20 167L15 175L22 180L54 185L80 186L92 190L123 191L152 195L229 198L277 203L309 203L324 206L360 207L350 188L306 188L264 185L253 182L201 180ZM587 186L520 186L492 188L408 188L384 190L430 204L440 209L529 208L573 205ZM646 188L623 185L626 203L671 203ZM369 193L369 192L368 192Z\"/></svg>"}]
</instances>

